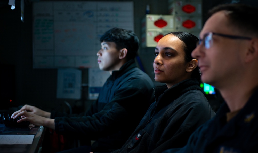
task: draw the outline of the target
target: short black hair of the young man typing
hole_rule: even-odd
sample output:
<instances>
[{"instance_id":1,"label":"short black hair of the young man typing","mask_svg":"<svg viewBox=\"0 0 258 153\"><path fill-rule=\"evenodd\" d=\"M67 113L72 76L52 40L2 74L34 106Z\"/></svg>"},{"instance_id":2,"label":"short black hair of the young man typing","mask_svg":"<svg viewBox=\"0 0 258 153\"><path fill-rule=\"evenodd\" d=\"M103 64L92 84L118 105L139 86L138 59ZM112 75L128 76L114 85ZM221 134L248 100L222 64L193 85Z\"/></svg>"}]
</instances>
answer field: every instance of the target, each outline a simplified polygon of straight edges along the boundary
<instances>
[{"instance_id":1,"label":"short black hair of the young man typing","mask_svg":"<svg viewBox=\"0 0 258 153\"><path fill-rule=\"evenodd\" d=\"M116 43L117 50L126 48L127 60L134 59L137 55L139 38L132 30L112 28L101 36L100 42L103 41Z\"/></svg>"}]
</instances>

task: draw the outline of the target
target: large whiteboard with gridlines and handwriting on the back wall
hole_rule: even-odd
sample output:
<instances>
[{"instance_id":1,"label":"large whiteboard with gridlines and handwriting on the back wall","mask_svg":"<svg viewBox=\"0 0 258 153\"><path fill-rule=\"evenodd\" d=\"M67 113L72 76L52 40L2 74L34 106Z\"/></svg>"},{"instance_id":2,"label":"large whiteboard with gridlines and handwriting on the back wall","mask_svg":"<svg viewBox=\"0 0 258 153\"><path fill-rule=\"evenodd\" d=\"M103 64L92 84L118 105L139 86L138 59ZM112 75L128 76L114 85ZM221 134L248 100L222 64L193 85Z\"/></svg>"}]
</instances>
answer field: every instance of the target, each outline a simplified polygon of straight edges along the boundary
<instances>
[{"instance_id":1,"label":"large whiteboard with gridlines and handwriting on the back wall","mask_svg":"<svg viewBox=\"0 0 258 153\"><path fill-rule=\"evenodd\" d=\"M134 31L133 2L33 2L33 68L96 68L100 37Z\"/></svg>"}]
</instances>

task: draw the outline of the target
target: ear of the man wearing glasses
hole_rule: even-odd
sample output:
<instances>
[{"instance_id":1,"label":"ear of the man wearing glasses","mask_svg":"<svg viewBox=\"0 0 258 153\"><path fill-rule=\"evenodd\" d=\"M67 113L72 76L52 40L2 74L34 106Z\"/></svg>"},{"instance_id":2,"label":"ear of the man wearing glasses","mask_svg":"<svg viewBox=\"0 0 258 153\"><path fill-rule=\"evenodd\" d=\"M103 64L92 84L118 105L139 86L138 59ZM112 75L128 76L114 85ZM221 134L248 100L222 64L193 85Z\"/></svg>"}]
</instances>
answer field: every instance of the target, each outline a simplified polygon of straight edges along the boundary
<instances>
[{"instance_id":1,"label":"ear of the man wearing glasses","mask_svg":"<svg viewBox=\"0 0 258 153\"><path fill-rule=\"evenodd\" d=\"M258 57L258 39L253 38L246 52L245 62L251 62Z\"/></svg>"}]
</instances>

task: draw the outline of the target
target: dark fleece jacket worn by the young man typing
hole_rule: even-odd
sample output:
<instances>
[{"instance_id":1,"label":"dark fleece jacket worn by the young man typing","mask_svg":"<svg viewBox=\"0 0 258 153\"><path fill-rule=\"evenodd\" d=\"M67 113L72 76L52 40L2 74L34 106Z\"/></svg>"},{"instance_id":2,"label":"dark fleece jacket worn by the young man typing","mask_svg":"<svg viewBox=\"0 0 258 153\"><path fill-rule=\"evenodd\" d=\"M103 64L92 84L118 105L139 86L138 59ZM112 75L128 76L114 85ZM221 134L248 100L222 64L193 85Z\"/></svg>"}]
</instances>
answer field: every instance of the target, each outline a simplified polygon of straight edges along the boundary
<instances>
[{"instance_id":1,"label":"dark fleece jacket worn by the young man typing","mask_svg":"<svg viewBox=\"0 0 258 153\"><path fill-rule=\"evenodd\" d=\"M92 151L110 152L122 147L150 106L154 87L134 60L113 71L98 99L84 114L74 117L52 112L58 134L96 140Z\"/></svg>"}]
</instances>

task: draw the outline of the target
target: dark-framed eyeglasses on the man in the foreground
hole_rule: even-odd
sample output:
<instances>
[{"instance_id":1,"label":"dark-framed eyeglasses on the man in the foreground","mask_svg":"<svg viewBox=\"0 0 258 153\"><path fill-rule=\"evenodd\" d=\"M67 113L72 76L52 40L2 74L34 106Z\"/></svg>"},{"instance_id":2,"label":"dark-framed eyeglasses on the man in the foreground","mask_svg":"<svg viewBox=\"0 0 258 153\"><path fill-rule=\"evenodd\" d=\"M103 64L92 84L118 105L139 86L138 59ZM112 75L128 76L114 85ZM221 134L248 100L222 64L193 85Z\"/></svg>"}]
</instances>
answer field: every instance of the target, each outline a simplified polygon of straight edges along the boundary
<instances>
[{"instance_id":1,"label":"dark-framed eyeglasses on the man in the foreground","mask_svg":"<svg viewBox=\"0 0 258 153\"><path fill-rule=\"evenodd\" d=\"M243 36L233 36L233 35L226 35L226 34L220 34L220 33L215 33L215 32L209 32L206 33L203 36L203 39L200 39L200 41L198 41L196 43L196 46L200 45L202 42L203 45L205 46L206 49L211 48L212 44L213 44L213 39L212 39L212 35L218 35L218 36L222 36L222 37L227 37L230 39L246 39L246 40L251 40L252 38L250 37L243 37Z\"/></svg>"}]
</instances>

